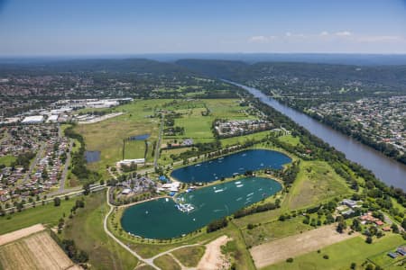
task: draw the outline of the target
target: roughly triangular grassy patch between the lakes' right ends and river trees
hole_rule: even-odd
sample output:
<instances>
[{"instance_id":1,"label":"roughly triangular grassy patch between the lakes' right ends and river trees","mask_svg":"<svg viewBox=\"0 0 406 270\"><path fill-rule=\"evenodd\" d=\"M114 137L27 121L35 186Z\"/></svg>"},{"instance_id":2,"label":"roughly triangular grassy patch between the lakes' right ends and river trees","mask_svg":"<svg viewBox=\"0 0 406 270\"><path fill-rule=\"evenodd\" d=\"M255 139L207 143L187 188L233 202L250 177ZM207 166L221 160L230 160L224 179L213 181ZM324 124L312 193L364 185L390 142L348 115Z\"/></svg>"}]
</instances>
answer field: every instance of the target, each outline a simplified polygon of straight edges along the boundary
<instances>
[{"instance_id":1,"label":"roughly triangular grassy patch between the lakes' right ends and river trees","mask_svg":"<svg viewBox=\"0 0 406 270\"><path fill-rule=\"evenodd\" d=\"M350 193L344 178L325 161L301 161L300 172L282 209L296 210Z\"/></svg>"}]
</instances>

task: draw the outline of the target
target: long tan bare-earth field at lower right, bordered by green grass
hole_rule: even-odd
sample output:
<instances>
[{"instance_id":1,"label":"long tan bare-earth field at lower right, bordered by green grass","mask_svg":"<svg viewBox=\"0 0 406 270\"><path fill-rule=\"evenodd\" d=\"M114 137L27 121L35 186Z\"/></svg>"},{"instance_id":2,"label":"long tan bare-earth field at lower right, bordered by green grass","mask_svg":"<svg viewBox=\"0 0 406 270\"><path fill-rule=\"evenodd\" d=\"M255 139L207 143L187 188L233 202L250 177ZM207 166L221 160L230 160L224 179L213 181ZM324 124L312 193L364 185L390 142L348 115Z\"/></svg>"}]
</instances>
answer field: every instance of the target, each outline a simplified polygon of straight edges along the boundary
<instances>
[{"instance_id":1,"label":"long tan bare-earth field at lower right, bordered by green grass","mask_svg":"<svg viewBox=\"0 0 406 270\"><path fill-rule=\"evenodd\" d=\"M330 225L253 247L250 252L255 266L262 268L289 257L298 257L348 238L354 238L357 235L356 233L339 234L336 231L336 225Z\"/></svg>"}]
</instances>

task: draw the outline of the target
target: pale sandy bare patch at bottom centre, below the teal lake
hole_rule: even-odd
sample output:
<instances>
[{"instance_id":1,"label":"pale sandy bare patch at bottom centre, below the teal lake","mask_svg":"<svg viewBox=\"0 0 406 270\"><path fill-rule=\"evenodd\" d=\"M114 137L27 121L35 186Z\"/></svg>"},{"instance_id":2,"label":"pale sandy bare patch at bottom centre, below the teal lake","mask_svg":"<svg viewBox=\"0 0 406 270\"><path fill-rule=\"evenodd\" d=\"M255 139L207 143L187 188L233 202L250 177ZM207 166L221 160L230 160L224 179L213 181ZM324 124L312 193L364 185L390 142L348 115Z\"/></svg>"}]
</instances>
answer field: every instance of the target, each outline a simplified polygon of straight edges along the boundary
<instances>
[{"instance_id":1,"label":"pale sandy bare patch at bottom centre, below the teal lake","mask_svg":"<svg viewBox=\"0 0 406 270\"><path fill-rule=\"evenodd\" d=\"M226 245L230 238L225 235L211 241L206 245L206 252L198 262L198 270L207 269L223 269L226 262L224 256L221 254L221 246Z\"/></svg>"}]
</instances>

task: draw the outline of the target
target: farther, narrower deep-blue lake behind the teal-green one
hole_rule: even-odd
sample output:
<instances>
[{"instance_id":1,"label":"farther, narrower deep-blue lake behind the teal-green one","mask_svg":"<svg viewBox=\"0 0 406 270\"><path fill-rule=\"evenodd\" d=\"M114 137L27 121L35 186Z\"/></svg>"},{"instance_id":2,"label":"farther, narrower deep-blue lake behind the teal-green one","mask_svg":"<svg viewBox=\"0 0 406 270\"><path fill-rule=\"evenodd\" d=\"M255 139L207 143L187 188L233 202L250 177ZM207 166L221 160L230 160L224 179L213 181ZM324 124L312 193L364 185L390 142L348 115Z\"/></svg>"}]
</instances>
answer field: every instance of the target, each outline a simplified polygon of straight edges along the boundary
<instances>
[{"instance_id":1,"label":"farther, narrower deep-blue lake behind the teal-green one","mask_svg":"<svg viewBox=\"0 0 406 270\"><path fill-rule=\"evenodd\" d=\"M281 152L253 149L205 161L197 165L180 167L174 170L171 176L185 183L212 182L221 179L221 177L242 175L248 170L280 169L284 164L290 162L291 157Z\"/></svg>"}]
</instances>

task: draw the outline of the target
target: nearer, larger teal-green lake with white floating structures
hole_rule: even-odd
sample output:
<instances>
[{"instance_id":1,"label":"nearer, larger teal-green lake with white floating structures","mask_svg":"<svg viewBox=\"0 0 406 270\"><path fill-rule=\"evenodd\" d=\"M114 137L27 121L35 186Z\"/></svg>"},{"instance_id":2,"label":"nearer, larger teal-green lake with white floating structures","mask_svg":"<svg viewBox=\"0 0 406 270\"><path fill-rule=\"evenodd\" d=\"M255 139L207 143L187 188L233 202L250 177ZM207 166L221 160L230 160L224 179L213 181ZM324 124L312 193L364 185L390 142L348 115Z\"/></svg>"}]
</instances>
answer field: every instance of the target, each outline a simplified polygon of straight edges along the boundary
<instances>
[{"instance_id":1,"label":"nearer, larger teal-green lake with white floating structures","mask_svg":"<svg viewBox=\"0 0 406 270\"><path fill-rule=\"evenodd\" d=\"M189 212L178 210L176 202L166 198L136 204L125 210L121 224L125 231L143 238L176 238L280 190L281 184L274 180L246 177L180 193L181 203L191 203L195 207Z\"/></svg>"}]
</instances>

